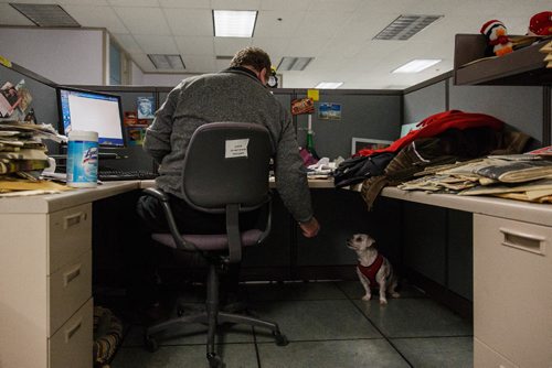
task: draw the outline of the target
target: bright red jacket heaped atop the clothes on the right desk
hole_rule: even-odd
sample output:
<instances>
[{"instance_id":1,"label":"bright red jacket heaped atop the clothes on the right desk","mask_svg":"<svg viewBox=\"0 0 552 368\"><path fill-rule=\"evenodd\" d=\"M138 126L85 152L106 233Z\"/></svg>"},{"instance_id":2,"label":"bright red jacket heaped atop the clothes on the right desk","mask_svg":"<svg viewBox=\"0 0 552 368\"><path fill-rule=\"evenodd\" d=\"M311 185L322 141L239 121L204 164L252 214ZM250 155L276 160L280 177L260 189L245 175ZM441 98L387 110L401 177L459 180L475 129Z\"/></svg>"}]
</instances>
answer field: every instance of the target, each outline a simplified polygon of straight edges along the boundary
<instances>
[{"instance_id":1,"label":"bright red jacket heaped atop the clothes on the right desk","mask_svg":"<svg viewBox=\"0 0 552 368\"><path fill-rule=\"evenodd\" d=\"M418 138L435 137L447 129L467 129L489 127L495 130L501 130L505 122L486 113L463 112L459 110L448 110L432 115L417 123L420 129L412 130L403 138L394 141L390 147L379 150L364 149L359 151L359 155L371 155L380 152L397 152L403 147Z\"/></svg>"}]
</instances>

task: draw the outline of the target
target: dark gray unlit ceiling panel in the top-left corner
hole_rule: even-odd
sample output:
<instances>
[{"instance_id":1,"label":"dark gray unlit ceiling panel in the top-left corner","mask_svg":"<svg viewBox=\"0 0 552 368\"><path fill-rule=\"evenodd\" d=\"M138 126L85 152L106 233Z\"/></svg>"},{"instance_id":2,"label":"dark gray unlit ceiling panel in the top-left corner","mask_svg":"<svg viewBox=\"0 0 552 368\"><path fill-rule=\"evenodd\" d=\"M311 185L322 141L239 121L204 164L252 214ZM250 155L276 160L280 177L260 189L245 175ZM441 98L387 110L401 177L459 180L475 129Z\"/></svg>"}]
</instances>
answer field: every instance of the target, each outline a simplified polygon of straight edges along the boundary
<instances>
[{"instance_id":1,"label":"dark gray unlit ceiling panel in the top-left corner","mask_svg":"<svg viewBox=\"0 0 552 368\"><path fill-rule=\"evenodd\" d=\"M13 3L10 6L38 26L81 26L57 4Z\"/></svg>"}]
</instances>

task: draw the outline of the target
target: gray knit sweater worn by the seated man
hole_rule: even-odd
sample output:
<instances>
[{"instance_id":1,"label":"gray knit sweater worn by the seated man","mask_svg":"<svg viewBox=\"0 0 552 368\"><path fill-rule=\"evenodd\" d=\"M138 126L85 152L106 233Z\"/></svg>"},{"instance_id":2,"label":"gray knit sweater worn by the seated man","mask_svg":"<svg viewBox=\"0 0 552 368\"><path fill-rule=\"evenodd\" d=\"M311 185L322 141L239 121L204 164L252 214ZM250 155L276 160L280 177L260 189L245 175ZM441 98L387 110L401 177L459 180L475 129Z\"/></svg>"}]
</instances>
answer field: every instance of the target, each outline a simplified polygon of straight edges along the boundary
<instances>
[{"instance_id":1,"label":"gray knit sweater worn by the seated man","mask_svg":"<svg viewBox=\"0 0 552 368\"><path fill-rule=\"evenodd\" d=\"M144 141L144 149L160 163L157 185L182 197L180 176L190 138L198 127L220 121L254 122L268 129L278 194L296 220L309 220L310 192L289 113L247 69L187 78L170 91Z\"/></svg>"}]
</instances>

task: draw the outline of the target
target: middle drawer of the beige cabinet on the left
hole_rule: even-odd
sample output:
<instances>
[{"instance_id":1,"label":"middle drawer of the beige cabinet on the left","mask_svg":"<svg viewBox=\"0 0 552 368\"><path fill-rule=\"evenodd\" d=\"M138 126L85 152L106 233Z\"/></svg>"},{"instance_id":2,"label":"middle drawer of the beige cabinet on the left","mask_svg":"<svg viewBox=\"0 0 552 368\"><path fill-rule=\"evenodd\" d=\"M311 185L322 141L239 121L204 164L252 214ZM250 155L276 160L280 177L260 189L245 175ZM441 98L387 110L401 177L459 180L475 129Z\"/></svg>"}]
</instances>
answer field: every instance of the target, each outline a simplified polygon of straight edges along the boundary
<instances>
[{"instance_id":1,"label":"middle drawer of the beige cabinet on the left","mask_svg":"<svg viewBox=\"0 0 552 368\"><path fill-rule=\"evenodd\" d=\"M92 250L47 277L47 286L52 336L92 296Z\"/></svg>"}]
</instances>

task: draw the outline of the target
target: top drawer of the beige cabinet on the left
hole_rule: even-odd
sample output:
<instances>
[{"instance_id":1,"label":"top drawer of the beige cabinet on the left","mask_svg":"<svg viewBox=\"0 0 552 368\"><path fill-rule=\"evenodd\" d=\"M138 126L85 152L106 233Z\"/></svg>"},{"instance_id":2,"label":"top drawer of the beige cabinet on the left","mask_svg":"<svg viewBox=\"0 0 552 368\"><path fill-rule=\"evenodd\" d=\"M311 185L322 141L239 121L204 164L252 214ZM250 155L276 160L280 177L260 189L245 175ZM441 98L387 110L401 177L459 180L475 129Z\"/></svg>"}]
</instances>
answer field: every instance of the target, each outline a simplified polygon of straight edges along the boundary
<instances>
[{"instance_id":1,"label":"top drawer of the beige cabinet on the left","mask_svg":"<svg viewBox=\"0 0 552 368\"><path fill-rule=\"evenodd\" d=\"M92 248L92 204L49 216L49 270L51 274Z\"/></svg>"}]
</instances>

